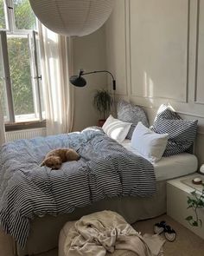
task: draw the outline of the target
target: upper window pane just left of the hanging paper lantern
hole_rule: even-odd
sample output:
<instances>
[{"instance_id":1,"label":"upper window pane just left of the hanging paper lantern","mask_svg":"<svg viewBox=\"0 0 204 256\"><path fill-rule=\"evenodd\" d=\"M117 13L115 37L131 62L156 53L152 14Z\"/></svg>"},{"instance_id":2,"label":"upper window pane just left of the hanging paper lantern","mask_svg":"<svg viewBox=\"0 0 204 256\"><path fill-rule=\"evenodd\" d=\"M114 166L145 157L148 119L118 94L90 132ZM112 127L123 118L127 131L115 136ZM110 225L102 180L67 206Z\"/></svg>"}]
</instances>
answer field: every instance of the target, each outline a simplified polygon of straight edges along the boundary
<instances>
[{"instance_id":1,"label":"upper window pane just left of the hanging paper lantern","mask_svg":"<svg viewBox=\"0 0 204 256\"><path fill-rule=\"evenodd\" d=\"M14 0L16 30L35 30L35 15L29 0Z\"/></svg>"}]
</instances>

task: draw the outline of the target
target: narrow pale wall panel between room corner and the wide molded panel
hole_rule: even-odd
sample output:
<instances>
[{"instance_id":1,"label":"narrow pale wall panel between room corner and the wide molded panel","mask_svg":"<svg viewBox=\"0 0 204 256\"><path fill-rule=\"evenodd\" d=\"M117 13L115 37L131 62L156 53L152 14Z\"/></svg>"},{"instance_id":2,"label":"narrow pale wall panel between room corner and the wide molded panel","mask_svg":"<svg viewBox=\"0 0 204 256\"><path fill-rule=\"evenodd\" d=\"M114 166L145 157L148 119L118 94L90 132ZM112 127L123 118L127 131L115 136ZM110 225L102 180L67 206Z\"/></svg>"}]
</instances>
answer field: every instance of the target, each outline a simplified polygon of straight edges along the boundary
<instances>
[{"instance_id":1,"label":"narrow pale wall panel between room corner and the wide molded panel","mask_svg":"<svg viewBox=\"0 0 204 256\"><path fill-rule=\"evenodd\" d=\"M126 1L117 0L105 27L107 69L116 78L116 95L128 95L126 63ZM118 39L119 38L119 39Z\"/></svg>"}]
</instances>

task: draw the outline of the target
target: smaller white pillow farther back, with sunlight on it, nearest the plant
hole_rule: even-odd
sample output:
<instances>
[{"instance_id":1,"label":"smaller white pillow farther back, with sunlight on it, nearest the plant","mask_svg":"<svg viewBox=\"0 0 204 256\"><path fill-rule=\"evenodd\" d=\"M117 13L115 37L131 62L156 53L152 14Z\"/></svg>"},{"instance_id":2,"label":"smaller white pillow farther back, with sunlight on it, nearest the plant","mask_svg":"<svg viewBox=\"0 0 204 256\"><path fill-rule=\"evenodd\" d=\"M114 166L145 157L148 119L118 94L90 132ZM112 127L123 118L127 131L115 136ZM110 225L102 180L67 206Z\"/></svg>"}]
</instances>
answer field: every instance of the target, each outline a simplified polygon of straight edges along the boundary
<instances>
[{"instance_id":1,"label":"smaller white pillow farther back, with sunlight on it, nearest the plant","mask_svg":"<svg viewBox=\"0 0 204 256\"><path fill-rule=\"evenodd\" d=\"M131 128L130 122L119 121L110 115L102 126L105 134L118 142L124 141L124 138Z\"/></svg>"}]
</instances>

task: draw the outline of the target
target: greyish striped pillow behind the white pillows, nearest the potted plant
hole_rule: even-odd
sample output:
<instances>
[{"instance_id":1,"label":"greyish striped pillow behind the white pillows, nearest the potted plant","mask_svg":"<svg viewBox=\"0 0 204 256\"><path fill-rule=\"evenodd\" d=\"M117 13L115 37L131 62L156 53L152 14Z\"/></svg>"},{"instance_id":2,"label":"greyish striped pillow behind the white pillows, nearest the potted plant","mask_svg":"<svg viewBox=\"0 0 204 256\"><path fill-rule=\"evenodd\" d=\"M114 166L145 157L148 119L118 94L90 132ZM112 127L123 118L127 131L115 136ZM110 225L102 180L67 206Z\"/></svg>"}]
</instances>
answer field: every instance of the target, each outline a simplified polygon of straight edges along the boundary
<instances>
[{"instance_id":1,"label":"greyish striped pillow behind the white pillows, nearest the potted plant","mask_svg":"<svg viewBox=\"0 0 204 256\"><path fill-rule=\"evenodd\" d=\"M120 121L131 122L131 128L126 137L127 139L131 140L132 133L136 128L138 121L142 121L145 127L149 127L149 121L143 109L138 106L132 105L129 102L125 102L124 100L119 101L117 107L117 114Z\"/></svg>"}]
</instances>

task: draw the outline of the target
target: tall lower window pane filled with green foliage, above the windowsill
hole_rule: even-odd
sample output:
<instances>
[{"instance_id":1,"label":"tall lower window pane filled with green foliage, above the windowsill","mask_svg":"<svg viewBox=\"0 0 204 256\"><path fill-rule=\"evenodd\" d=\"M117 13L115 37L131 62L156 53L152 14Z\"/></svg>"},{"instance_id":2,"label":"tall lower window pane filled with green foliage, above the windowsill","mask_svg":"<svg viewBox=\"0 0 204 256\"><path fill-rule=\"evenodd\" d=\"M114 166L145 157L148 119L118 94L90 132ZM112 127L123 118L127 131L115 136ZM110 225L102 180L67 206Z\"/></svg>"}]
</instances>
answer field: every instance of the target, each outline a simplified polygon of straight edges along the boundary
<instances>
[{"instance_id":1,"label":"tall lower window pane filled with green foliage, above the windowsill","mask_svg":"<svg viewBox=\"0 0 204 256\"><path fill-rule=\"evenodd\" d=\"M15 116L32 114L28 119L34 118L28 38L8 37L8 52Z\"/></svg>"}]
</instances>

